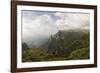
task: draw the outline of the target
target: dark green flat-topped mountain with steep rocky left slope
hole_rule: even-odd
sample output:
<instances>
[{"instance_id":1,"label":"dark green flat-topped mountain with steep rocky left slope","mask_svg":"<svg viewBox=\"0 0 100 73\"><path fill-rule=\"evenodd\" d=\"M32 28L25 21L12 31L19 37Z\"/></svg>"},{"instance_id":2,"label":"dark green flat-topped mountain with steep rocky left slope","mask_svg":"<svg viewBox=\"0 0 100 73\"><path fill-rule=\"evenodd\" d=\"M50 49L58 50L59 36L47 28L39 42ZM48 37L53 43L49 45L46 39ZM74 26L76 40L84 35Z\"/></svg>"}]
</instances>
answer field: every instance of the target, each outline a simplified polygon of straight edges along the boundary
<instances>
[{"instance_id":1,"label":"dark green flat-topped mountain with steep rocky left slope","mask_svg":"<svg viewBox=\"0 0 100 73\"><path fill-rule=\"evenodd\" d=\"M60 30L49 38L47 52L64 55L89 47L89 30Z\"/></svg>"}]
</instances>

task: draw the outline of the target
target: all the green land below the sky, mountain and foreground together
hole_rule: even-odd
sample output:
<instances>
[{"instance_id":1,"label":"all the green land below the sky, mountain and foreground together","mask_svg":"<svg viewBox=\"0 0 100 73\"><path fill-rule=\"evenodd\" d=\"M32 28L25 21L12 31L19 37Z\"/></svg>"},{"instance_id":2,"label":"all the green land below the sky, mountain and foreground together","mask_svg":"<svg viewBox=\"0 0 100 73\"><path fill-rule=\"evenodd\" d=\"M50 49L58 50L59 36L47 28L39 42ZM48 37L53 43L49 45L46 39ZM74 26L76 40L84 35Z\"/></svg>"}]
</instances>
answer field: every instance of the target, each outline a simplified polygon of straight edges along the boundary
<instances>
[{"instance_id":1,"label":"all the green land below the sky, mountain and foreground together","mask_svg":"<svg viewBox=\"0 0 100 73\"><path fill-rule=\"evenodd\" d=\"M22 61L58 61L89 59L89 32L60 31L51 36L47 47L28 48L22 44Z\"/></svg>"}]
</instances>

